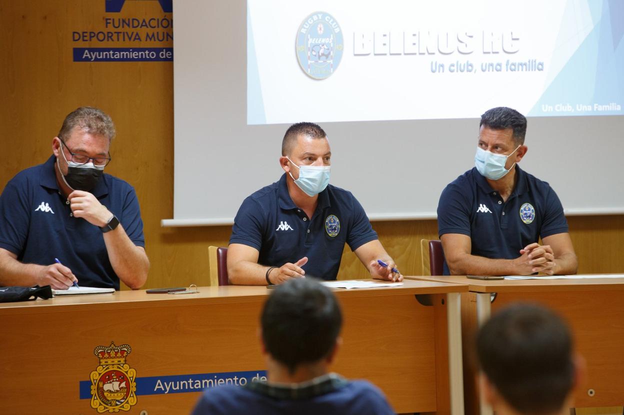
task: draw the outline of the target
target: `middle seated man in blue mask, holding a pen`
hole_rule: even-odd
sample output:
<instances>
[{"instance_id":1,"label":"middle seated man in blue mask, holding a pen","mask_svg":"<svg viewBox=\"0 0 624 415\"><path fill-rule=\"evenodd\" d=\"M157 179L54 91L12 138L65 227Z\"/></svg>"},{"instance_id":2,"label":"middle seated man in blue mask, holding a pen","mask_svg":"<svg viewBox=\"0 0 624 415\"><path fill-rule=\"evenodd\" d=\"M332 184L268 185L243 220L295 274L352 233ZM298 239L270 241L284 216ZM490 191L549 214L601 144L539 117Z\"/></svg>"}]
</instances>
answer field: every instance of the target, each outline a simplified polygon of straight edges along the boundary
<instances>
[{"instance_id":1,"label":"middle seated man in blue mask, holding a pen","mask_svg":"<svg viewBox=\"0 0 624 415\"><path fill-rule=\"evenodd\" d=\"M373 278L402 280L358 200L328 185L330 159L318 125L300 122L286 131L280 157L285 173L236 213L227 255L232 284L280 284L306 275L336 280L344 243Z\"/></svg>"}]
</instances>

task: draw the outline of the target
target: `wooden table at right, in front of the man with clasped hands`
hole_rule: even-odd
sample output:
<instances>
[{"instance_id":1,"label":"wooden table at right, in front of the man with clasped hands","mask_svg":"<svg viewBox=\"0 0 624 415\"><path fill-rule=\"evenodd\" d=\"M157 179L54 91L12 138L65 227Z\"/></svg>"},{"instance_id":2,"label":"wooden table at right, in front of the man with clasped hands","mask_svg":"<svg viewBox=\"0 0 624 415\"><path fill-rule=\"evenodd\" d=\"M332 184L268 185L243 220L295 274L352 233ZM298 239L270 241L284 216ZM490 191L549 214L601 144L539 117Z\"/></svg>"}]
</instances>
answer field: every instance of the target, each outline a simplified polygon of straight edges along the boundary
<instances>
[{"instance_id":1,"label":"wooden table at right, in front of the man with clasped hands","mask_svg":"<svg viewBox=\"0 0 624 415\"><path fill-rule=\"evenodd\" d=\"M599 275L596 275L597 277ZM515 301L542 303L565 318L575 346L587 360L587 379L575 396L577 408L624 404L624 278L585 280L471 280L466 276L414 276L426 281L467 284L462 298L464 357L479 325ZM492 293L496 293L492 298ZM492 301L493 300L493 301ZM464 364L466 413L492 414L480 405L474 368Z\"/></svg>"}]
</instances>

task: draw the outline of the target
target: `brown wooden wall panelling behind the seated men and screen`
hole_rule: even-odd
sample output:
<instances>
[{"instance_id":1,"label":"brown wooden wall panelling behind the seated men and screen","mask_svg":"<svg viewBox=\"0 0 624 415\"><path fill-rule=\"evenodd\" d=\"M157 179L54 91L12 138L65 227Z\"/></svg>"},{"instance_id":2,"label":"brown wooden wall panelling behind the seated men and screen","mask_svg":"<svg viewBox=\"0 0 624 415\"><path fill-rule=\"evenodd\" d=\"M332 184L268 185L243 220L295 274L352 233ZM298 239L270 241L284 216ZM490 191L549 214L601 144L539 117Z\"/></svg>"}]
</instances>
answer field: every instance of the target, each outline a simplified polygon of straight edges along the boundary
<instances>
[{"instance_id":1,"label":"brown wooden wall panelling behind the seated men and screen","mask_svg":"<svg viewBox=\"0 0 624 415\"><path fill-rule=\"evenodd\" d=\"M156 1L127 1L119 17L155 14L163 16ZM118 130L107 172L130 182L139 196L152 262L146 286L207 285L208 246L227 245L231 228L160 227L161 219L173 217L173 64L72 62L76 45L71 32L99 30L104 16L104 0L0 0L0 187L23 168L47 159L67 113L79 105L100 107ZM199 183L198 191L205 191ZM580 272L624 272L619 252L624 216L573 217L569 222ZM420 240L437 237L436 222L373 226L401 271L419 273ZM340 275L367 275L348 247Z\"/></svg>"}]
</instances>

